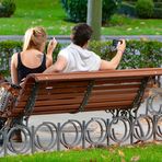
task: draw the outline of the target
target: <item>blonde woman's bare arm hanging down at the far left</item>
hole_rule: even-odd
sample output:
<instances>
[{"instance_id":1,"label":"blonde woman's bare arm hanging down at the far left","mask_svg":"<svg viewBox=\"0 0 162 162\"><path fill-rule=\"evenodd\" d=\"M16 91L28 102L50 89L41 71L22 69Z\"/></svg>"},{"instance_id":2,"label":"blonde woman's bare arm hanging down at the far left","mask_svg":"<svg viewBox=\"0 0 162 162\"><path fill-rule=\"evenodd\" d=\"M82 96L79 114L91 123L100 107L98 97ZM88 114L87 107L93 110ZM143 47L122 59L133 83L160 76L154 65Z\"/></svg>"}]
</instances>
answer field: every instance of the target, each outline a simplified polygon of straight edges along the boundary
<instances>
[{"instance_id":1,"label":"blonde woman's bare arm hanging down at the far left","mask_svg":"<svg viewBox=\"0 0 162 162\"><path fill-rule=\"evenodd\" d=\"M11 58L11 80L12 80L12 83L19 84L18 82L18 54L13 54Z\"/></svg>"}]
</instances>

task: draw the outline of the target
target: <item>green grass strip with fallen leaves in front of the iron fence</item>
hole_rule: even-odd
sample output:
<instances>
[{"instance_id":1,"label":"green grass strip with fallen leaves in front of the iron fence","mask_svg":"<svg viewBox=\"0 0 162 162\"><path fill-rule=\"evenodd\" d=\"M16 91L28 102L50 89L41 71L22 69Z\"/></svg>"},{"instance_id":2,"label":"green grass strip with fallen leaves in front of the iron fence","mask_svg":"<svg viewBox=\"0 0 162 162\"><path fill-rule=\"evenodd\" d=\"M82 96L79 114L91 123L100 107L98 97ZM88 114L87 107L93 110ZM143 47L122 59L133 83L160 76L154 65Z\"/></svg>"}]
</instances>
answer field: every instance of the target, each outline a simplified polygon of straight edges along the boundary
<instances>
[{"instance_id":1,"label":"green grass strip with fallen leaves in front of the iron fence","mask_svg":"<svg viewBox=\"0 0 162 162\"><path fill-rule=\"evenodd\" d=\"M139 144L136 147L111 147L35 153L33 155L5 157L1 162L161 162L162 144Z\"/></svg>"}]
</instances>

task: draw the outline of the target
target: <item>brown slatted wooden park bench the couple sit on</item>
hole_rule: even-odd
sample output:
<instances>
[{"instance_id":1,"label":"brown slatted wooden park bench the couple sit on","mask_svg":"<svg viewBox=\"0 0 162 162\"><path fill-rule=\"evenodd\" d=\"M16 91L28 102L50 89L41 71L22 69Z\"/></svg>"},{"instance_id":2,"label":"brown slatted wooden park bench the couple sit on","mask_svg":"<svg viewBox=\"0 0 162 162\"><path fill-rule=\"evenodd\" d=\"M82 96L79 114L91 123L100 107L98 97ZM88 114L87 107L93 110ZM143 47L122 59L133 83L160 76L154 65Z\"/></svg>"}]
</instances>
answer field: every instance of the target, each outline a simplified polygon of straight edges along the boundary
<instances>
[{"instance_id":1,"label":"brown slatted wooden park bench the couple sit on","mask_svg":"<svg viewBox=\"0 0 162 162\"><path fill-rule=\"evenodd\" d=\"M27 76L9 118L107 111L136 117L162 68Z\"/></svg>"}]
</instances>

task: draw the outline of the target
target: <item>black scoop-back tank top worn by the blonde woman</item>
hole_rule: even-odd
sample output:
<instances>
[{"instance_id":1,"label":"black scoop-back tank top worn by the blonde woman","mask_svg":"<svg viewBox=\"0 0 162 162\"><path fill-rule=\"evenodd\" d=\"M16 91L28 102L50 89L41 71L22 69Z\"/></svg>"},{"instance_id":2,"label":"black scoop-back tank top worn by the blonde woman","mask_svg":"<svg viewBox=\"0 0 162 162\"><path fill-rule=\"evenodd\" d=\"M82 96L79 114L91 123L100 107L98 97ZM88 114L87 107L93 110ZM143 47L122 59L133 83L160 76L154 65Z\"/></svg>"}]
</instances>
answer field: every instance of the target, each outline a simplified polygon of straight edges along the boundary
<instances>
[{"instance_id":1,"label":"black scoop-back tank top worn by the blonde woman","mask_svg":"<svg viewBox=\"0 0 162 162\"><path fill-rule=\"evenodd\" d=\"M28 68L22 63L21 54L18 54L18 81L21 82L30 73L42 73L46 70L46 55L43 55L43 61L37 68Z\"/></svg>"}]
</instances>

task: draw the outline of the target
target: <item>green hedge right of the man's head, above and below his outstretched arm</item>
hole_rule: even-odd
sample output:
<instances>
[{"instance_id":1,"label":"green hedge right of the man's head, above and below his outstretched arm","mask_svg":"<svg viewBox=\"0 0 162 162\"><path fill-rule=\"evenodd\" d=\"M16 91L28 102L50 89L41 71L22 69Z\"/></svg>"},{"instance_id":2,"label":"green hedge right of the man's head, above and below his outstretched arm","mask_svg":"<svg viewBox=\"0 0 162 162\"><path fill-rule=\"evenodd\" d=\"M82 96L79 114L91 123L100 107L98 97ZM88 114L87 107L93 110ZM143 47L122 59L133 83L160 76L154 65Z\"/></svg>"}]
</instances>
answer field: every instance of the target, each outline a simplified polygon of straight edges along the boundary
<instances>
[{"instance_id":1,"label":"green hedge right of the man's head, above and below his outstretched arm","mask_svg":"<svg viewBox=\"0 0 162 162\"><path fill-rule=\"evenodd\" d=\"M111 42L92 42L90 48L103 59L111 60L116 51ZM129 40L119 69L154 68L162 65L162 42Z\"/></svg>"}]
</instances>

